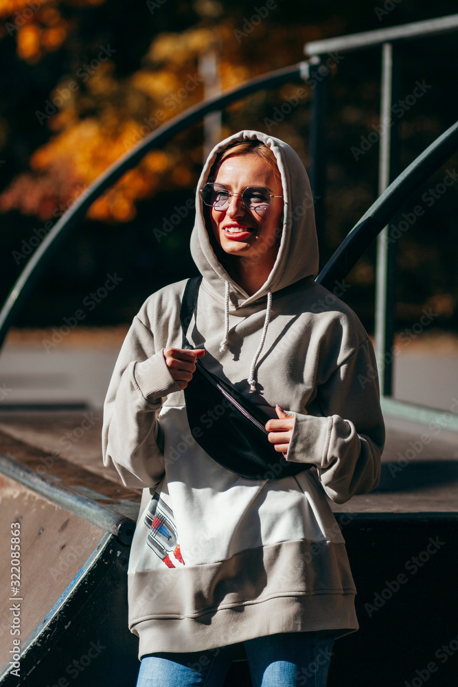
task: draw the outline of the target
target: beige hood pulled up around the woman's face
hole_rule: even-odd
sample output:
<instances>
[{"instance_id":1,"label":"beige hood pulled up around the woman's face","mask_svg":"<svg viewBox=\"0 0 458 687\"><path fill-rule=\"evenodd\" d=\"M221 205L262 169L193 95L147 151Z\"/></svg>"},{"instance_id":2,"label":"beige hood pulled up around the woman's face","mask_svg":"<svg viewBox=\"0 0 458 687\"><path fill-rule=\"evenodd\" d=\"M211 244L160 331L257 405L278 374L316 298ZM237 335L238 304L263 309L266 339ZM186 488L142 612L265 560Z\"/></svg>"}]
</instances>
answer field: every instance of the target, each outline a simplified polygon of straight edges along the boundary
<instances>
[{"instance_id":1,"label":"beige hood pulled up around the woman's face","mask_svg":"<svg viewBox=\"0 0 458 687\"><path fill-rule=\"evenodd\" d=\"M218 153L233 142L248 139L259 139L271 148L282 178L284 195L282 238L277 259L266 282L251 296L231 279L216 257L205 227L203 201L199 192L207 183L211 166ZM291 146L261 131L244 129L229 136L211 150L196 189L196 221L191 235L191 254L211 291L225 301L228 308L251 305L269 291L273 293L304 277L317 275L318 241L310 181L304 164Z\"/></svg>"}]
</instances>

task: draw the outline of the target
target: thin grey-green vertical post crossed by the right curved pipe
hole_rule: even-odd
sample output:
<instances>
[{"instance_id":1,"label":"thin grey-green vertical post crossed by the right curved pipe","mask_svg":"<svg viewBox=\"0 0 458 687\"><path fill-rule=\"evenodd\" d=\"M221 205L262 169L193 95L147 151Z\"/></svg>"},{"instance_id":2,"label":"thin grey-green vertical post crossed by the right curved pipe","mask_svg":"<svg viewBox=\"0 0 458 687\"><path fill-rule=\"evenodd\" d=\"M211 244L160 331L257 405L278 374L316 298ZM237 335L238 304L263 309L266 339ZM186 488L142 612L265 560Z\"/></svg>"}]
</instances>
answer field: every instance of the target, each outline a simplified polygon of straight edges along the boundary
<instances>
[{"instance_id":1,"label":"thin grey-green vertical post crossed by the right curved pipe","mask_svg":"<svg viewBox=\"0 0 458 687\"><path fill-rule=\"evenodd\" d=\"M380 98L380 157L378 164L378 194L393 180L393 131L391 107L398 88L398 68L393 69L393 45L382 45L382 82ZM395 156L396 157L396 156ZM393 338L396 309L396 243L389 241L389 227L377 238L376 266L376 358L382 396L393 394Z\"/></svg>"}]
</instances>

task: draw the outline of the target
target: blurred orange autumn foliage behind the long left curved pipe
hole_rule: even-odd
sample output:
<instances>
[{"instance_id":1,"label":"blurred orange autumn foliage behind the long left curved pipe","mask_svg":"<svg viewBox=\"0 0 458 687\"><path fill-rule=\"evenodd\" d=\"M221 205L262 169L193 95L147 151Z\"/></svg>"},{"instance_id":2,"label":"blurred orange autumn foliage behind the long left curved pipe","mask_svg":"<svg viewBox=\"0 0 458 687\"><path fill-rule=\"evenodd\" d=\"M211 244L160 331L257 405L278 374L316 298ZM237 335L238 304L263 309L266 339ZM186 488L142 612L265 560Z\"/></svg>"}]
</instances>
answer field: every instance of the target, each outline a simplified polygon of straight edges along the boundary
<instances>
[{"instance_id":1,"label":"blurred orange autumn foliage behind the long left curved pipe","mask_svg":"<svg viewBox=\"0 0 458 687\"><path fill-rule=\"evenodd\" d=\"M73 0L73 4L83 7L104 1ZM0 0L0 16L11 18L14 12L25 8L25 0ZM113 76L113 63L108 60L84 81L78 78L80 70L76 70L72 80L77 87L71 92L68 82L58 83L56 91L49 94L49 102L55 103L54 112L49 113L48 109L46 115L38 117L52 135L34 151L31 171L19 174L0 195L0 211L16 209L49 218L56 207L68 206L75 194L88 188L155 128L201 101L203 85L198 58L210 45L220 52L222 89L293 62L293 53L301 55L301 27L275 27L266 35L265 25L259 27L257 37L255 32L251 34L250 41L267 43L268 54L260 50L255 64L247 66L244 46L234 37L236 28L240 27L225 20L211 28L159 34L152 41L141 69L123 80ZM71 26L60 16L58 0L48 0L16 31L18 54L35 63L45 52L60 47L69 30ZM283 61L274 63L274 59ZM65 102L56 97L62 91L68 93ZM41 110L45 111L44 103ZM193 147L196 142L189 146ZM192 185L195 164L195 157L183 155L179 146L168 153L152 151L93 203L88 216L100 221L130 221L135 217L139 199L163 188Z\"/></svg>"}]
</instances>

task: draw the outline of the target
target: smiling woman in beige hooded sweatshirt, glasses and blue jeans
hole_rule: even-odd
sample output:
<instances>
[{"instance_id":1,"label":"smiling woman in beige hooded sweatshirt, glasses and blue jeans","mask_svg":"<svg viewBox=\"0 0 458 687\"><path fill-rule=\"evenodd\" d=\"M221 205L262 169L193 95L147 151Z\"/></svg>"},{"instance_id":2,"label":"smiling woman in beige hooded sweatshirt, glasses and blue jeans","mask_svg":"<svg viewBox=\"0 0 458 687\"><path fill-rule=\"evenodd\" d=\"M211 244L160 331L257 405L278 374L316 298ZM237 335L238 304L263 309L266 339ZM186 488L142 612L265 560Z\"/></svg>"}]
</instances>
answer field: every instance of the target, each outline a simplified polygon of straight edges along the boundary
<instances>
[{"instance_id":1,"label":"smiling woman in beige hooded sweatshirt, glasses and blue jeans","mask_svg":"<svg viewBox=\"0 0 458 687\"><path fill-rule=\"evenodd\" d=\"M182 347L185 280L135 317L104 410L104 463L144 488L128 570L137 685L221 685L242 650L255 686L323 686L334 639L358 629L326 496L342 504L380 475L378 383L358 381L376 369L371 342L313 280L310 185L279 139L240 131L214 148L191 249L203 275L194 350ZM268 413L279 455L311 469L249 480L205 453L183 392L201 357Z\"/></svg>"}]
</instances>

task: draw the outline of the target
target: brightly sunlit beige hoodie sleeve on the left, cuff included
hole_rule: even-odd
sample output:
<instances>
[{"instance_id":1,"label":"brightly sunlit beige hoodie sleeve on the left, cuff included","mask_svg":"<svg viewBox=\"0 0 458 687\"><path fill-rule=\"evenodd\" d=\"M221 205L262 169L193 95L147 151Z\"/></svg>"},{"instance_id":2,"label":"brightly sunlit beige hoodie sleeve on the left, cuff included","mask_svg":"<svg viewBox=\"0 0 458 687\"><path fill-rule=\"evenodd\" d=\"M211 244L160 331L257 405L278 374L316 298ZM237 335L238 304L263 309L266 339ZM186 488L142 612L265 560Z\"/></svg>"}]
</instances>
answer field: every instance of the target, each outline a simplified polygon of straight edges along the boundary
<instances>
[{"instance_id":1,"label":"brightly sunlit beige hoodie sleeve on the left, cuff included","mask_svg":"<svg viewBox=\"0 0 458 687\"><path fill-rule=\"evenodd\" d=\"M104 403L102 452L126 486L154 488L164 472L158 445L163 399L179 391L155 350L150 330L135 317L117 359Z\"/></svg>"}]
</instances>

